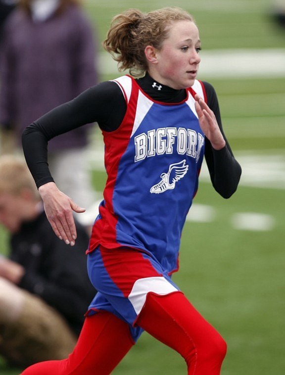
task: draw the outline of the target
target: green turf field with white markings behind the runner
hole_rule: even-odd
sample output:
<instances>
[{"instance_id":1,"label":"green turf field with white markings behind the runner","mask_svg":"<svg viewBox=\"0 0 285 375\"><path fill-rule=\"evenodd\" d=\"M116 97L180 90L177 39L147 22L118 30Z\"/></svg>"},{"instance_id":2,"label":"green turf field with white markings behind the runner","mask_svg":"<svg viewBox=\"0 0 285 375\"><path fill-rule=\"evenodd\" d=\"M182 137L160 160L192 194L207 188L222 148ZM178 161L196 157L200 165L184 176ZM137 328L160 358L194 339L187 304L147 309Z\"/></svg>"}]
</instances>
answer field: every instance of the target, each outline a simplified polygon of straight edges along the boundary
<instances>
[{"instance_id":1,"label":"green turf field with white markings behind the runner","mask_svg":"<svg viewBox=\"0 0 285 375\"><path fill-rule=\"evenodd\" d=\"M173 3L88 0L86 8L102 41L118 12ZM278 29L268 15L272 4L269 0L175 1L196 19L201 57L203 51L216 49L285 49L285 29ZM263 77L207 77L217 91L224 130L243 176L237 193L225 200L202 173L194 207L203 210L185 225L180 272L174 275L228 343L222 375L285 374L285 75L270 74L274 62L273 56L268 59ZM101 79L106 78L112 77L102 70ZM102 191L104 172L92 173L96 190ZM5 233L0 236L5 252ZM0 360L0 374L16 375L19 370L8 369ZM182 375L186 366L178 354L144 333L113 374Z\"/></svg>"}]
</instances>

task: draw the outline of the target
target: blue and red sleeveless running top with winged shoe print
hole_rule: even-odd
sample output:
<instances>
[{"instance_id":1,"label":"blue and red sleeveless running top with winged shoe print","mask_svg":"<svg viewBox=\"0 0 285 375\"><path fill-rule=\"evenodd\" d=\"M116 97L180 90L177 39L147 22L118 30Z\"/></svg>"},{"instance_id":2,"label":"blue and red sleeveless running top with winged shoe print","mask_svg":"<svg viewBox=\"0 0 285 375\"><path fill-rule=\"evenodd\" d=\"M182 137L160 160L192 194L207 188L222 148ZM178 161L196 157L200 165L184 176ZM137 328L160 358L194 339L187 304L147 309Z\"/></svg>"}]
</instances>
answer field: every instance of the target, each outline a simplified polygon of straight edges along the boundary
<instances>
[{"instance_id":1,"label":"blue and red sleeveless running top with winged shoe print","mask_svg":"<svg viewBox=\"0 0 285 375\"><path fill-rule=\"evenodd\" d=\"M206 100L204 87L196 80L185 100L162 103L131 76L114 82L127 111L117 130L102 131L107 182L88 252L98 245L135 248L171 274L178 270L181 234L204 155L194 107L196 93Z\"/></svg>"}]
</instances>

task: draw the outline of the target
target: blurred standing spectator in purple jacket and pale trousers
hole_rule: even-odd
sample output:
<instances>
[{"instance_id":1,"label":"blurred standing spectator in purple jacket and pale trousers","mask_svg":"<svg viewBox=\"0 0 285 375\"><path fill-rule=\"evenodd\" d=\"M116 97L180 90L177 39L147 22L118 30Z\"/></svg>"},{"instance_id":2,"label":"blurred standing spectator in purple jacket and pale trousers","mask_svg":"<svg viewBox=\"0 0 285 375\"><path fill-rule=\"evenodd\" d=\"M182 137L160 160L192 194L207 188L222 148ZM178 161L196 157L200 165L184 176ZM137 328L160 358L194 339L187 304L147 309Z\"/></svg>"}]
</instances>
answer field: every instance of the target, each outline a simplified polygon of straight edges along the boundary
<instances>
[{"instance_id":1,"label":"blurred standing spectator in purple jacket and pale trousers","mask_svg":"<svg viewBox=\"0 0 285 375\"><path fill-rule=\"evenodd\" d=\"M2 33L1 153L20 146L22 131L32 121L97 83L94 33L79 0L18 1ZM81 207L95 201L86 160L90 128L49 142L54 179Z\"/></svg>"}]
</instances>

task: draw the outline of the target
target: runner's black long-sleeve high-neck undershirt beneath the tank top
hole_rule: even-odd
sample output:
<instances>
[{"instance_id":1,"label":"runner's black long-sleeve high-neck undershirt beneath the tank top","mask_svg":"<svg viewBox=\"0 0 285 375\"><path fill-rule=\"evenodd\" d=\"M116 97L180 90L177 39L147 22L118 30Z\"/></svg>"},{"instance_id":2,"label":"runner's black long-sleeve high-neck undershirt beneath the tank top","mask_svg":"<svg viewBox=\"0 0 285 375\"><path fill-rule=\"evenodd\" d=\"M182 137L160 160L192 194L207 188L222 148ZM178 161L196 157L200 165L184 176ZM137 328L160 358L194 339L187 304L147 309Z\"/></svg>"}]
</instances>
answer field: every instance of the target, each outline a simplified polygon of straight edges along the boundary
<instances>
[{"instance_id":1,"label":"runner's black long-sleeve high-neck undershirt beneath the tank top","mask_svg":"<svg viewBox=\"0 0 285 375\"><path fill-rule=\"evenodd\" d=\"M203 83L207 103L214 112L226 141L224 148L215 150L205 139L205 160L213 187L223 197L228 198L237 189L241 168L224 135L215 90L209 83ZM186 97L185 90L174 90L163 85L158 91L156 87L152 87L153 80L148 75L139 79L138 84L146 94L157 101L179 103ZM120 126L126 108L119 86L115 82L107 81L54 108L29 125L23 133L22 142L25 158L37 187L53 181L47 164L47 142L51 138L94 122L98 123L101 130L112 132Z\"/></svg>"}]
</instances>

